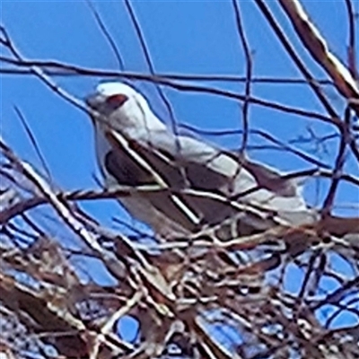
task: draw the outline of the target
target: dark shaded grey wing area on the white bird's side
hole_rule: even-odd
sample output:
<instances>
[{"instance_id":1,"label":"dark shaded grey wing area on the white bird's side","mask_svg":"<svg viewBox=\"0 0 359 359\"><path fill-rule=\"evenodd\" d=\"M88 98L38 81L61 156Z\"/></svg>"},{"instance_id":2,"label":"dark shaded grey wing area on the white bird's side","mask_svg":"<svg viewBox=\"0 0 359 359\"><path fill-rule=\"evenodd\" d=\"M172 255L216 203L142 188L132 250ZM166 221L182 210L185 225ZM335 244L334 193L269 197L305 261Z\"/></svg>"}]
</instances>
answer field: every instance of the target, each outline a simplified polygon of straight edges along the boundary
<instances>
[{"instance_id":1,"label":"dark shaded grey wing area on the white bird's side","mask_svg":"<svg viewBox=\"0 0 359 359\"><path fill-rule=\"evenodd\" d=\"M148 163L168 185L168 190L141 194L158 213L165 214L175 223L180 223L180 226L188 232L194 232L205 223L218 223L235 212L225 201L218 202L206 196L197 197L183 193L185 189L195 189L221 194L220 188L227 178L209 169L205 162L196 163L184 158L179 159L176 153L172 155L161 146L154 148L135 140L127 140L127 142L131 150ZM119 184L132 187L156 184L151 172L136 162L136 159L120 144L112 146L106 153L104 166Z\"/></svg>"}]
</instances>

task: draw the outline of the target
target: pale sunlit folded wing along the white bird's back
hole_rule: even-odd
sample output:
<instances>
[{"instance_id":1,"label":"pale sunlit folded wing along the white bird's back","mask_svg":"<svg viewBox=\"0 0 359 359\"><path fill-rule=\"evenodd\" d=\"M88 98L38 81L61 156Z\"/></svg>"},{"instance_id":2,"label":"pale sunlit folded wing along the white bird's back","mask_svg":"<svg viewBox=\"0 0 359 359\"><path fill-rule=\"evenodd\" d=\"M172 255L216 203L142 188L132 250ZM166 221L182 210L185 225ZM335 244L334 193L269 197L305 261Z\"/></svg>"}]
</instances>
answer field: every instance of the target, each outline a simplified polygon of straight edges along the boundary
<instances>
[{"instance_id":1,"label":"pale sunlit folded wing along the white bird's back","mask_svg":"<svg viewBox=\"0 0 359 359\"><path fill-rule=\"evenodd\" d=\"M185 169L193 186L221 189L226 195L238 195L253 188L266 189L277 197L300 197L294 180L270 167L250 162L243 155L230 153L188 136L159 133L153 144L144 144L152 152L163 154L172 164ZM234 193L231 193L234 192Z\"/></svg>"}]
</instances>

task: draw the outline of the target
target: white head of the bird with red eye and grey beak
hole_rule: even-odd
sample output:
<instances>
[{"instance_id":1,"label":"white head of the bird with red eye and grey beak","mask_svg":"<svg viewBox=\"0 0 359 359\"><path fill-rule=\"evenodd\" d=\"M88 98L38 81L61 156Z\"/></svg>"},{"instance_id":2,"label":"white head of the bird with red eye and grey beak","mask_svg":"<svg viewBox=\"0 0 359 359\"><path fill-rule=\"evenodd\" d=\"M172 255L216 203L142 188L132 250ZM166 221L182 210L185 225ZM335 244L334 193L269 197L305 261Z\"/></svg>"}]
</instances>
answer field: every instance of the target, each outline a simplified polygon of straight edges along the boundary
<instances>
[{"instance_id":1,"label":"white head of the bird with red eye and grey beak","mask_svg":"<svg viewBox=\"0 0 359 359\"><path fill-rule=\"evenodd\" d=\"M144 96L126 83L100 83L96 92L86 98L87 105L98 112L99 123L118 130L140 127L162 127Z\"/></svg>"}]
</instances>

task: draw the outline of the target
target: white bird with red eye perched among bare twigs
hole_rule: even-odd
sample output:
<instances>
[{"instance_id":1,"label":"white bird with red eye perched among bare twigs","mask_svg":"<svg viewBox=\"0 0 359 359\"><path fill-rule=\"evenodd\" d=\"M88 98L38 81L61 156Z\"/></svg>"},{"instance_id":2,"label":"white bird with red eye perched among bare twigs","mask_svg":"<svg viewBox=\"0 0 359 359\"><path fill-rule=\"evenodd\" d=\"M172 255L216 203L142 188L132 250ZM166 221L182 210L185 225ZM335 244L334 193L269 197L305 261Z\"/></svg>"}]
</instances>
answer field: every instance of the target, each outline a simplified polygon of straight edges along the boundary
<instances>
[{"instance_id":1,"label":"white bird with red eye perched among bare twigs","mask_svg":"<svg viewBox=\"0 0 359 359\"><path fill-rule=\"evenodd\" d=\"M144 96L127 84L101 83L86 103L92 109L97 159L106 187L163 188L119 198L131 215L158 235L170 238L196 232L247 206L268 216L280 215L289 223L311 221L295 181L196 138L175 136ZM259 220L250 228L245 222L242 229L247 234L263 230Z\"/></svg>"}]
</instances>

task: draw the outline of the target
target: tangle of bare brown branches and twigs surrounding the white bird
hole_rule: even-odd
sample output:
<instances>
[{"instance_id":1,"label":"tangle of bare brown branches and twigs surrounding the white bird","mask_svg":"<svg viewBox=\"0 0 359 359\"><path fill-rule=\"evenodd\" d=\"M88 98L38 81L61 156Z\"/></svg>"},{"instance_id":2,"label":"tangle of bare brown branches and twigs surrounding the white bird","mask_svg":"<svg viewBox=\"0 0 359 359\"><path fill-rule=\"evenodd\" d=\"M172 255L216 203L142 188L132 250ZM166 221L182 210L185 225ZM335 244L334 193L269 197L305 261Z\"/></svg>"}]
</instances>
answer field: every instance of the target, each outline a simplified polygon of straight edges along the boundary
<instances>
[{"instance_id":1,"label":"tangle of bare brown branches and twigs surrounding the white bird","mask_svg":"<svg viewBox=\"0 0 359 359\"><path fill-rule=\"evenodd\" d=\"M311 74L308 60L299 55L267 2L253 0L253 3L276 33L302 79L256 76L242 24L246 13L235 0L232 11L247 59L247 71L242 77L156 74L141 24L129 1L125 1L126 8L140 39L149 74L28 59L6 28L1 28L0 41L6 52L1 55L0 71L4 76L31 74L48 86L48 91L68 101L69 106L85 112L89 109L83 101L57 85L58 76L93 75L155 83L167 106L170 103L162 92L166 87L234 99L241 103L242 109L241 128L232 130L242 134L240 153L253 147L249 138L254 134L266 141L258 143L258 149L276 148L308 163L305 171L295 171L286 177L274 174L272 180L276 185L301 177L327 179L329 183L318 209L318 219L311 224L289 225L276 214L268 216L261 208L248 208L231 198L219 198L228 201L237 214L215 226L204 226L186 238L162 241L156 233L127 236L105 228L81 208L84 200L115 200L134 190L150 189L54 188L47 174L23 161L11 144L1 140L1 358L359 357L359 216L339 216L335 211L340 184L347 183L354 194L358 194L359 186L355 174L345 170L348 155L356 166L359 162L357 14L353 3L345 1L347 17L343 21L348 24L350 36L348 56L343 62L330 51L325 34L311 22L299 1L278 2L297 38L325 71L326 77L318 79ZM97 25L121 63L116 42L94 5L91 6ZM245 90L230 92L208 85L215 80L245 83ZM258 98L251 92L252 84L258 82L302 83L320 101L322 110L298 109ZM343 100L345 105L341 109L328 96L328 86ZM322 121L333 131L328 136L311 133L310 138L287 143L263 129L250 127L252 106ZM26 123L21 109L16 111ZM179 126L173 123L173 127ZM187 129L206 135L225 135L207 128ZM31 128L27 132L37 148ZM305 153L298 147L305 141L325 144L333 137L338 138L339 145L329 166L323 164L318 153ZM38 148L37 151L40 153ZM354 211L358 209L355 195L351 206ZM48 211L41 221L39 207ZM56 223L58 233L66 232L74 237L77 248L67 246L62 234L57 236L45 230L39 223L44 218ZM88 266L96 262L106 268L113 284L101 285L91 278L84 279L79 258ZM293 280L301 281L298 294L288 289L288 283ZM335 283L335 289L325 289L326 281ZM325 311L328 314L321 315ZM341 327L333 326L344 314L352 320ZM123 318L132 318L137 323L138 332L133 340L118 330L118 321Z\"/></svg>"}]
</instances>

